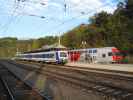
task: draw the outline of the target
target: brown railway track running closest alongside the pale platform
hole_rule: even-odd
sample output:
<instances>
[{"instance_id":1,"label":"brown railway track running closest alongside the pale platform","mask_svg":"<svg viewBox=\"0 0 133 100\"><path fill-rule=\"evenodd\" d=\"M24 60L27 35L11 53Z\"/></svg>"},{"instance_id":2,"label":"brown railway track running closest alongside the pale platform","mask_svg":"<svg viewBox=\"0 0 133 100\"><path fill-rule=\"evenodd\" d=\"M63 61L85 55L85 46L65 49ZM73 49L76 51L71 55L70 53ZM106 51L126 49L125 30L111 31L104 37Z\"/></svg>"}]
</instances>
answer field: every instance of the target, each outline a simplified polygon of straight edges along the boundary
<instances>
[{"instance_id":1,"label":"brown railway track running closest alongside the pale platform","mask_svg":"<svg viewBox=\"0 0 133 100\"><path fill-rule=\"evenodd\" d=\"M37 66L49 66L53 68L61 68L61 69L71 69L71 70L80 70L80 71L89 71L89 72L97 72L97 73L102 73L102 74L111 74L115 76L122 76L119 79L128 79L132 80L133 79L133 72L125 72L125 71L120 71L120 70L109 70L109 69L98 69L98 68L89 68L89 67L79 67L79 66L68 66L68 65L56 65L56 64L45 64L45 63L39 63L39 62L27 62L27 61L20 61L19 63L21 64L33 64ZM127 78L128 77L128 78Z\"/></svg>"}]
</instances>

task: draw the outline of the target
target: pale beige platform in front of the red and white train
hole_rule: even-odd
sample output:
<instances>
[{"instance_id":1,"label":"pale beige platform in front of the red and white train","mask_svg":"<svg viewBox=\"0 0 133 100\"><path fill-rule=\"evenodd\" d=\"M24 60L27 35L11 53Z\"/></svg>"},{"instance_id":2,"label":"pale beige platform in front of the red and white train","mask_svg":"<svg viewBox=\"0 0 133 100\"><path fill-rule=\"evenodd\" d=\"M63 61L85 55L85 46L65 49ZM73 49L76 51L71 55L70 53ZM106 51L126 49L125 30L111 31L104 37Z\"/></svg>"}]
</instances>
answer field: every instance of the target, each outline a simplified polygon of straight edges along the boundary
<instances>
[{"instance_id":1,"label":"pale beige platform in front of the red and white train","mask_svg":"<svg viewBox=\"0 0 133 100\"><path fill-rule=\"evenodd\" d=\"M111 71L121 71L121 72L130 72L133 73L133 65L132 64L89 64L89 63L81 63L81 62L69 62L66 64L67 66L75 66L75 67L85 67L85 68L95 68L100 70L111 70Z\"/></svg>"}]
</instances>

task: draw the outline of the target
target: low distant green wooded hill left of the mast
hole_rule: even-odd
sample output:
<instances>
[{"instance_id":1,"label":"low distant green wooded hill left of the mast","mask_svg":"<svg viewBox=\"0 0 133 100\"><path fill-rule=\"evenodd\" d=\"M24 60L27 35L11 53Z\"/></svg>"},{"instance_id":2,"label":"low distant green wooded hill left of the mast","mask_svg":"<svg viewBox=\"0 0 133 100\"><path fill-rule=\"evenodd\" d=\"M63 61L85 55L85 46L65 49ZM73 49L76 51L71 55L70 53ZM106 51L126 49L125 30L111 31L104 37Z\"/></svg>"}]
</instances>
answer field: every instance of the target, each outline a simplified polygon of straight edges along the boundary
<instances>
[{"instance_id":1,"label":"low distant green wooded hill left of the mast","mask_svg":"<svg viewBox=\"0 0 133 100\"><path fill-rule=\"evenodd\" d=\"M30 51L41 48L43 45L55 43L57 37L48 36L39 39L18 40L17 38L1 38L0 39L0 58L13 57L16 52Z\"/></svg>"}]
</instances>

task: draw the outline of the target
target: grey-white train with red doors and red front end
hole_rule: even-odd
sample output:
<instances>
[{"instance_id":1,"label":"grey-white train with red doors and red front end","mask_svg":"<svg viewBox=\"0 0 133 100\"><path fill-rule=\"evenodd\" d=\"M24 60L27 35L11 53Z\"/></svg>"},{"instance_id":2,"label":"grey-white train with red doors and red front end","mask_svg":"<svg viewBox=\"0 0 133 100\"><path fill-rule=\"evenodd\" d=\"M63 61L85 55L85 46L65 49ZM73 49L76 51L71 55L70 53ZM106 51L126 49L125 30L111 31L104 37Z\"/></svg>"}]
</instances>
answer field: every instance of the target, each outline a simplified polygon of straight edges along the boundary
<instances>
[{"instance_id":1,"label":"grey-white train with red doors and red front end","mask_svg":"<svg viewBox=\"0 0 133 100\"><path fill-rule=\"evenodd\" d=\"M70 62L120 63L124 56L116 47L86 48L69 50Z\"/></svg>"}]
</instances>

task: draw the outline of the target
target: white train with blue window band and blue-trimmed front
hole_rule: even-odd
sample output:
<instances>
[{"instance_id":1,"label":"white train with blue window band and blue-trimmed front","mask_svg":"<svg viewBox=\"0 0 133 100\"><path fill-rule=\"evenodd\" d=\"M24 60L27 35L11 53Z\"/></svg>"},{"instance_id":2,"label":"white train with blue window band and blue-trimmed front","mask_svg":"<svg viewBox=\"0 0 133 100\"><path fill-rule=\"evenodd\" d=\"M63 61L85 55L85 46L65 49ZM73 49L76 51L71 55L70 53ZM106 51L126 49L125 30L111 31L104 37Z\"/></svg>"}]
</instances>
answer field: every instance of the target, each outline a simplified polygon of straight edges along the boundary
<instances>
[{"instance_id":1,"label":"white train with blue window band and blue-trimmed front","mask_svg":"<svg viewBox=\"0 0 133 100\"><path fill-rule=\"evenodd\" d=\"M17 59L45 63L64 64L68 61L67 50L36 51L17 54Z\"/></svg>"}]
</instances>

